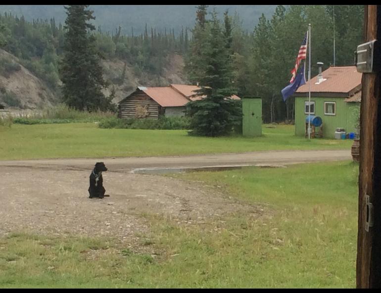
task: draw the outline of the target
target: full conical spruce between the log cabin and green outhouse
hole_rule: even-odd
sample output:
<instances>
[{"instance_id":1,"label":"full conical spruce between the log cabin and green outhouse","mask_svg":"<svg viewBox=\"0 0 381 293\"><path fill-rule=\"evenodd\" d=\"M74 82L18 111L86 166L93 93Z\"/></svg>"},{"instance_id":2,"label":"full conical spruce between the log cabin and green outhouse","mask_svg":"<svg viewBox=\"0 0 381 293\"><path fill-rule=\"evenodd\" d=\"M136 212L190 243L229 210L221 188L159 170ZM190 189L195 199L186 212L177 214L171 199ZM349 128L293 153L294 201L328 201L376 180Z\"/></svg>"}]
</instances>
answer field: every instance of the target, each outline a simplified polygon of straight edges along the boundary
<instances>
[{"instance_id":1,"label":"full conical spruce between the log cabin and green outhouse","mask_svg":"<svg viewBox=\"0 0 381 293\"><path fill-rule=\"evenodd\" d=\"M227 98L236 91L232 87L231 60L225 44L226 40L214 10L204 52L204 70L199 76L201 89L197 91L198 95L206 97L187 105L192 133L195 135L226 135L241 121L239 102Z\"/></svg>"}]
</instances>

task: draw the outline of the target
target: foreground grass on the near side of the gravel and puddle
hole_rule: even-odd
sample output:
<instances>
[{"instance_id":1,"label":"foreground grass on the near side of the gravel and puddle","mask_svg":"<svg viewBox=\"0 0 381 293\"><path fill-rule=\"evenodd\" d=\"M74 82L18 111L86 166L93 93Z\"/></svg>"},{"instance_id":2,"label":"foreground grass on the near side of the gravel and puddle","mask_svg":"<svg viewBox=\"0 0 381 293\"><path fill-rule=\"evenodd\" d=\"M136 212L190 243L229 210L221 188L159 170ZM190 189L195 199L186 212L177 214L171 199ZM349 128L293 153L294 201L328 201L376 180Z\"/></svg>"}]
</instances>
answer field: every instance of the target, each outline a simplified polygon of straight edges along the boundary
<instances>
[{"instance_id":1,"label":"foreground grass on the near side of the gravel and puddle","mask_svg":"<svg viewBox=\"0 0 381 293\"><path fill-rule=\"evenodd\" d=\"M145 215L134 253L112 239L0 239L0 287L354 288L358 165L248 168L175 177L218 185L263 214L198 225Z\"/></svg>"}]
</instances>

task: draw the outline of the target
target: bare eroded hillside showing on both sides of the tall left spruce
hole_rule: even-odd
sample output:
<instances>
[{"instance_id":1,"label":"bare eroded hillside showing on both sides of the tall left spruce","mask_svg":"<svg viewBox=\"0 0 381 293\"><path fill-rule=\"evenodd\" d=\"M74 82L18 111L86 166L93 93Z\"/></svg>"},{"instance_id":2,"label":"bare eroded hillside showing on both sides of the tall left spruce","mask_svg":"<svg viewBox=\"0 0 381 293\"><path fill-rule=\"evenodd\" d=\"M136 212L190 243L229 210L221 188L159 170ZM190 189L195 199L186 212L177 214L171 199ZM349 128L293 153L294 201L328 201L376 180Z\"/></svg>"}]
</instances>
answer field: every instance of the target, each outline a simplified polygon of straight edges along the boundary
<instances>
[{"instance_id":1,"label":"bare eroded hillside showing on both sides of the tall left spruce","mask_svg":"<svg viewBox=\"0 0 381 293\"><path fill-rule=\"evenodd\" d=\"M0 72L0 104L6 109L42 109L55 105L59 102L57 92L51 91L43 80L31 73L19 63L19 59L14 55L0 49L0 59L7 62L14 62L20 66L19 70L11 73L1 74ZM108 96L111 89L115 89L114 103L118 103L138 86L168 86L171 83L187 84L183 73L184 60L181 55L174 54L167 57L163 71L160 75L151 74L145 71L137 73L134 67L128 62L119 59L103 60L102 63L104 78L110 82L110 86L103 90ZM4 98L3 92L8 93L8 98ZM18 106L10 105L11 99L16 99Z\"/></svg>"}]
</instances>

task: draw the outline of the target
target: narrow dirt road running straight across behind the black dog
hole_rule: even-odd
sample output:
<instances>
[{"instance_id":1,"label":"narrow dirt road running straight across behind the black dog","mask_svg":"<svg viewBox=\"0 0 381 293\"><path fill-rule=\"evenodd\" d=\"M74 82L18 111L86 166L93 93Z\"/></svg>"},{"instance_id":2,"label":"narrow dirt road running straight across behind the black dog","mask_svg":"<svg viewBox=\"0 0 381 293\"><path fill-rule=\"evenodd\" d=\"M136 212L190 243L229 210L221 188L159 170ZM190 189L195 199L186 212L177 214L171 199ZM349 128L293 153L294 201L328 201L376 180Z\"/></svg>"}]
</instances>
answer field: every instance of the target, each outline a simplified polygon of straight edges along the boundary
<instances>
[{"instance_id":1,"label":"narrow dirt road running straight across behind the black dog","mask_svg":"<svg viewBox=\"0 0 381 293\"><path fill-rule=\"evenodd\" d=\"M200 168L210 166L287 165L307 162L350 160L350 150L283 150L246 153L166 157L125 157L94 159L43 159L0 161L0 167L20 166L50 170L89 170L96 161L103 161L109 170L122 171L135 168Z\"/></svg>"}]
</instances>

